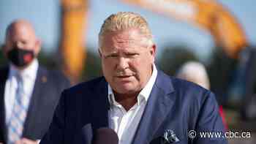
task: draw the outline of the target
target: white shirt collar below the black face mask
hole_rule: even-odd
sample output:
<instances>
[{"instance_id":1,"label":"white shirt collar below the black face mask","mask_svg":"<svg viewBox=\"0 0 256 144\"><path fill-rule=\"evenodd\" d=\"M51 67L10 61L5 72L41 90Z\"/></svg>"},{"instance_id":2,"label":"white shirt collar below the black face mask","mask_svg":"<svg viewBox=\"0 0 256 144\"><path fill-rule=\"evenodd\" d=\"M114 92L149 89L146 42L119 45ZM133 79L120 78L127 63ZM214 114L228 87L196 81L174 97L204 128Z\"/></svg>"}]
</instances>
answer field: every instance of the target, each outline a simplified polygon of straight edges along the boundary
<instances>
[{"instance_id":1,"label":"white shirt collar below the black face mask","mask_svg":"<svg viewBox=\"0 0 256 144\"><path fill-rule=\"evenodd\" d=\"M31 64L29 67L26 67L25 69L17 69L13 64L10 64L10 77L15 75L21 75L21 77L29 77L31 80L34 80L37 77L37 69L39 67L39 63L37 58L34 58L33 61L31 61Z\"/></svg>"}]
</instances>

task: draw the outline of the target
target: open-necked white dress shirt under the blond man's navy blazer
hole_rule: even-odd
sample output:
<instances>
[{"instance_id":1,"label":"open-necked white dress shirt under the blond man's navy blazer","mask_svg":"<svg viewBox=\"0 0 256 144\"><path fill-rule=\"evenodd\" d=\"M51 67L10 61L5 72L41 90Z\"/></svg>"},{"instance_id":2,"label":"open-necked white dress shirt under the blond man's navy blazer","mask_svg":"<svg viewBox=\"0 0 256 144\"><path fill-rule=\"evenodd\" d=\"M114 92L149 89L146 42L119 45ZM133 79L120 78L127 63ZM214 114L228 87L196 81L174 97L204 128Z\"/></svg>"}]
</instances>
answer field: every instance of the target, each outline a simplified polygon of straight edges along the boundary
<instances>
[{"instance_id":1,"label":"open-necked white dress shirt under the blond man's navy blazer","mask_svg":"<svg viewBox=\"0 0 256 144\"><path fill-rule=\"evenodd\" d=\"M108 110L109 126L118 134L119 144L132 143L156 79L157 68L154 65L148 83L146 83L146 86L140 91L140 94L138 94L138 102L128 111L116 102L113 90L110 88L110 85L108 85L108 100L110 102L110 110Z\"/></svg>"}]
</instances>

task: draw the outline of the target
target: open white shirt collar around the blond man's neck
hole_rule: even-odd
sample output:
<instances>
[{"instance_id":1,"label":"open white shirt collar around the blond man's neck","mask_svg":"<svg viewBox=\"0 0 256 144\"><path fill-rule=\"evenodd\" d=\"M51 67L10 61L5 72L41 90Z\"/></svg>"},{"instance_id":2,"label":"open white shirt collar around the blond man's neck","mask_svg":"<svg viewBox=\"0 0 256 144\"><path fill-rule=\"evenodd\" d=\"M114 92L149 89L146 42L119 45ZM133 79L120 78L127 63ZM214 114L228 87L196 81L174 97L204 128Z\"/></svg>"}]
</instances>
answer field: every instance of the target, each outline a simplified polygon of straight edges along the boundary
<instances>
[{"instance_id":1,"label":"open white shirt collar around the blond man's neck","mask_svg":"<svg viewBox=\"0 0 256 144\"><path fill-rule=\"evenodd\" d=\"M153 72L151 77L148 80L148 83L146 83L146 86L140 91L140 94L138 94L138 105L140 105L140 102L143 101L143 99L148 101L148 97L151 94L151 90L154 86L155 81L157 80L157 67L155 64L153 64ZM113 94L113 90L108 84L108 101L110 102L110 105L119 105L118 102L116 102L116 99Z\"/></svg>"}]
</instances>

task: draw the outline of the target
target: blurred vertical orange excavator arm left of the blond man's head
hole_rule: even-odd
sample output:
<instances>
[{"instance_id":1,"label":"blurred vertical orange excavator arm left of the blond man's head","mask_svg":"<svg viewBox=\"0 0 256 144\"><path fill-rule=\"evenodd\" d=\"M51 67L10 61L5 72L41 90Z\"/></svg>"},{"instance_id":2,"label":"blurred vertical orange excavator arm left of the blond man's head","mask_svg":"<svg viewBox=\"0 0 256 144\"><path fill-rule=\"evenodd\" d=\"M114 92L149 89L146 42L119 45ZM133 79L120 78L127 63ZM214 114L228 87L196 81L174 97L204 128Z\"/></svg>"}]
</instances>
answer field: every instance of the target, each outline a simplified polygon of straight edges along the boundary
<instances>
[{"instance_id":1,"label":"blurred vertical orange excavator arm left of the blond man's head","mask_svg":"<svg viewBox=\"0 0 256 144\"><path fill-rule=\"evenodd\" d=\"M62 69L72 83L77 83L86 59L85 34L87 0L61 0L61 53Z\"/></svg>"}]
</instances>

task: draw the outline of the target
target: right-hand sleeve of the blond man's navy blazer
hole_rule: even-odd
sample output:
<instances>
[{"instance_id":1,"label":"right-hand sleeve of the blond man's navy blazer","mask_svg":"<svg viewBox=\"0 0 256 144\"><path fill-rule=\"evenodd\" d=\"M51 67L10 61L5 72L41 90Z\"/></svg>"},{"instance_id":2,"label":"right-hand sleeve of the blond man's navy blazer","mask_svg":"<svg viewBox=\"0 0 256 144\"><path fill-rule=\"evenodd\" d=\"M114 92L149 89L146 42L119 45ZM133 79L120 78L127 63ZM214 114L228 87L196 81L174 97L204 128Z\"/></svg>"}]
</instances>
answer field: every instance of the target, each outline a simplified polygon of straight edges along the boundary
<instances>
[{"instance_id":1,"label":"right-hand sleeve of the blond man's navy blazer","mask_svg":"<svg viewBox=\"0 0 256 144\"><path fill-rule=\"evenodd\" d=\"M219 114L219 106L213 93L208 92L203 96L197 122L195 126L197 136L193 140L194 144L226 144L225 128L222 123L222 118ZM211 132L214 136L206 135L202 132ZM219 135L220 134L220 135Z\"/></svg>"}]
</instances>

